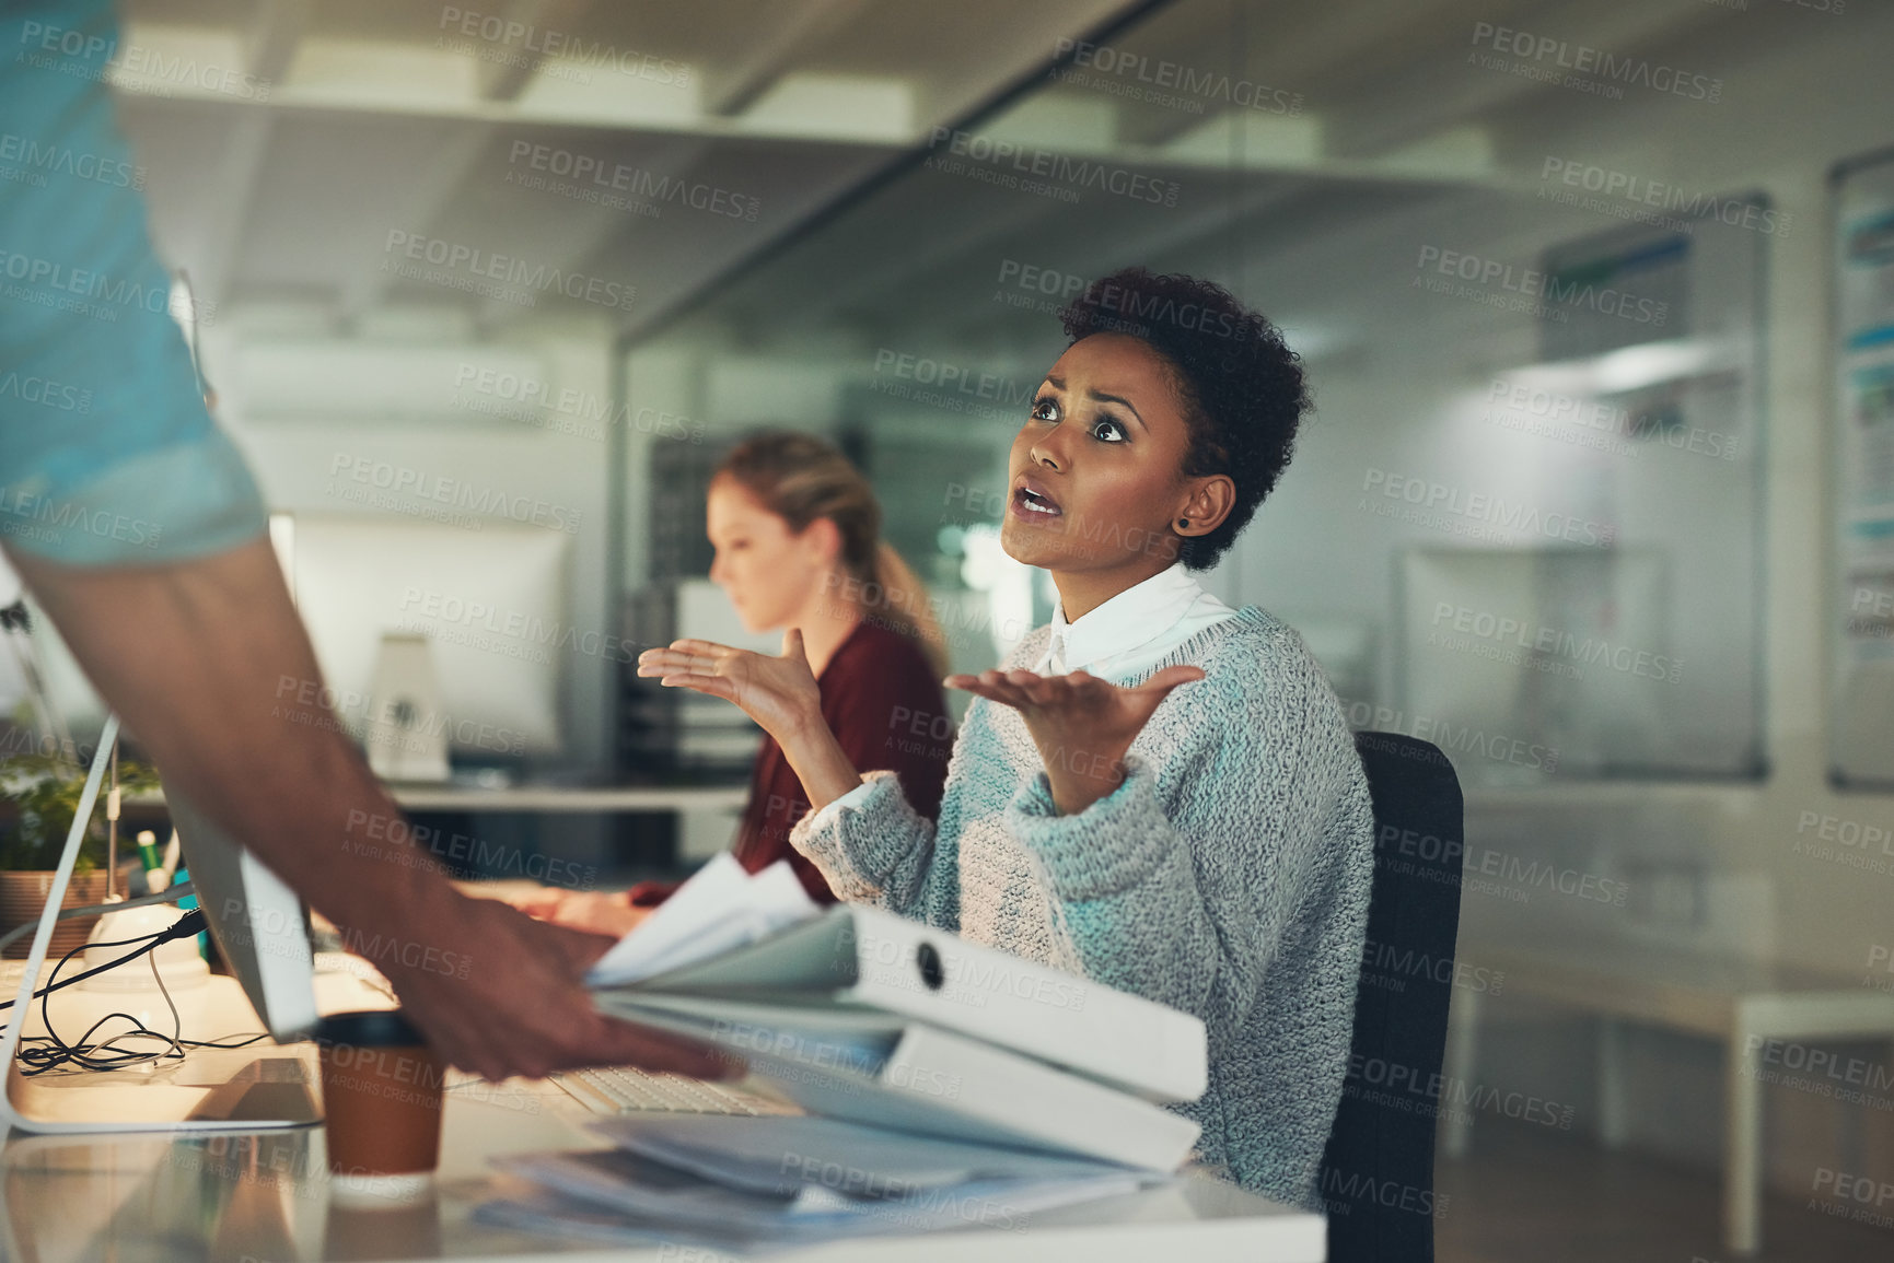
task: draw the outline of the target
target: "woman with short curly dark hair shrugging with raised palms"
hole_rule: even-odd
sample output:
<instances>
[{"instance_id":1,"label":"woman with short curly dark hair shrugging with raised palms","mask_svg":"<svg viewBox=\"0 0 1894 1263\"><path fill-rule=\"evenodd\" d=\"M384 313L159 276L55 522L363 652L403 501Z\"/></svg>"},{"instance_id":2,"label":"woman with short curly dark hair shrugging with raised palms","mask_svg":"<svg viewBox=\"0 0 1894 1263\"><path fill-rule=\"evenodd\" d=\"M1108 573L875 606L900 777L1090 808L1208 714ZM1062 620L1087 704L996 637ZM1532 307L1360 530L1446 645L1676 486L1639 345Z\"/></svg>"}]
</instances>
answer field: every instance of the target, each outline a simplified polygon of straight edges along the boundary
<instances>
[{"instance_id":1,"label":"woman with short curly dark hair shrugging with raised palms","mask_svg":"<svg viewBox=\"0 0 1894 1263\"><path fill-rule=\"evenodd\" d=\"M1195 1013L1199 1157L1320 1208L1349 1062L1373 816L1341 704L1290 627L1189 576L1277 485L1309 407L1263 316L1129 269L1064 312L1072 345L1013 439L1006 551L1059 608L975 693L939 822L858 769L797 646L703 642L640 672L725 697L813 810L790 843L837 896ZM866 771L866 774L864 774Z\"/></svg>"}]
</instances>

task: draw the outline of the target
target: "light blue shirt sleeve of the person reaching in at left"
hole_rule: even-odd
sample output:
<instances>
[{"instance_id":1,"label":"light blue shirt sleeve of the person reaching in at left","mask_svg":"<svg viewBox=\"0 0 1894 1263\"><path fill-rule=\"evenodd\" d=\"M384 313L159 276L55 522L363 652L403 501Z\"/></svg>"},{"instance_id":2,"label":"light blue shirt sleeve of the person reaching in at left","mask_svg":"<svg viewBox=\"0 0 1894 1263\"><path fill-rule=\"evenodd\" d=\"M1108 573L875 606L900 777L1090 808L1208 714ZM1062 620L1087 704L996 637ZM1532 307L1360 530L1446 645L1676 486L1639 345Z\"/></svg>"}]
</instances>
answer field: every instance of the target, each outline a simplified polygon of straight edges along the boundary
<instances>
[{"instance_id":1,"label":"light blue shirt sleeve of the person reaching in at left","mask_svg":"<svg viewBox=\"0 0 1894 1263\"><path fill-rule=\"evenodd\" d=\"M0 11L0 542L98 566L267 526L170 316L104 81L116 44L110 0Z\"/></svg>"}]
</instances>

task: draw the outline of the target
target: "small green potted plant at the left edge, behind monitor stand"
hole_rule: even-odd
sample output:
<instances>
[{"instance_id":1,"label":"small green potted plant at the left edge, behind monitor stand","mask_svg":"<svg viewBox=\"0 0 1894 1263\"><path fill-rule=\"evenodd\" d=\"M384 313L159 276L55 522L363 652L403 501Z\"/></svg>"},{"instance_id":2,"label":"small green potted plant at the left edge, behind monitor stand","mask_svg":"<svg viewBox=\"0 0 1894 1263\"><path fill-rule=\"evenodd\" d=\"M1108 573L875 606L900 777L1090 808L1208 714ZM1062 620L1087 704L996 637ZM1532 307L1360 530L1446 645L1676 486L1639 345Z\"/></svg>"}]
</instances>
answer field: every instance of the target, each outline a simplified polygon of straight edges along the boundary
<instances>
[{"instance_id":1,"label":"small green potted plant at the left edge, behind monitor stand","mask_svg":"<svg viewBox=\"0 0 1894 1263\"><path fill-rule=\"evenodd\" d=\"M142 763L119 761L119 790L155 790L157 773ZM0 759L0 799L13 807L13 820L0 826L0 934L40 918L53 873L72 831L72 814L85 790L85 767L47 754ZM100 792L100 799L104 793ZM121 856L129 848L121 848ZM72 867L63 907L85 907L106 898L106 822L95 810ZM53 930L53 956L85 945L97 916L74 916ZM15 939L6 954L25 956L32 935Z\"/></svg>"}]
</instances>

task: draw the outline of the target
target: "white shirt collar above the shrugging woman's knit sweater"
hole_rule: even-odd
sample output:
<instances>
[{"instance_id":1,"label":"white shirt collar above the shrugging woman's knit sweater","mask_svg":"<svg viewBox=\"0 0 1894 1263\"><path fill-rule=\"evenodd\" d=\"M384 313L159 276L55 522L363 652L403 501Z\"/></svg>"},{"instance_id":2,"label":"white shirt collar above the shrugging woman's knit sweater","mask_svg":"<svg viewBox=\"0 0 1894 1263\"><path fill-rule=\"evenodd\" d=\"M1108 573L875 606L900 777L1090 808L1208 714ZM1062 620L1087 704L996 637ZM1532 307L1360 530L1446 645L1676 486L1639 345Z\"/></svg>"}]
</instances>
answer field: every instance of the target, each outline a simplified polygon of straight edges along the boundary
<instances>
[{"instance_id":1,"label":"white shirt collar above the shrugging woman's knit sweater","mask_svg":"<svg viewBox=\"0 0 1894 1263\"><path fill-rule=\"evenodd\" d=\"M1045 653L1032 665L1042 676L1074 670L1119 684L1148 672L1180 644L1231 617L1235 610L1203 591L1184 562L1127 587L1076 623L1064 604L1053 610Z\"/></svg>"}]
</instances>

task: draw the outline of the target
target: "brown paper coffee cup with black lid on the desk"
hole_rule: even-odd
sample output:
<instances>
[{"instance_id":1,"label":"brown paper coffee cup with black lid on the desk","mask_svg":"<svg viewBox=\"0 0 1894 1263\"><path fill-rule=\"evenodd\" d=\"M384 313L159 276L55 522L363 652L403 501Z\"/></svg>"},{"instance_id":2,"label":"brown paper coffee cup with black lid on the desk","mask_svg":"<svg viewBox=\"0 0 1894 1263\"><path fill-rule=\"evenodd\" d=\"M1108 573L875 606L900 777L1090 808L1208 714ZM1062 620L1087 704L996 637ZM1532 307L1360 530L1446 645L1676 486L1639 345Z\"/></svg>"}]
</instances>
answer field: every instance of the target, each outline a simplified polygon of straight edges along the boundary
<instances>
[{"instance_id":1,"label":"brown paper coffee cup with black lid on the desk","mask_svg":"<svg viewBox=\"0 0 1894 1263\"><path fill-rule=\"evenodd\" d=\"M324 1017L316 1043L337 1183L379 1195L424 1183L441 1155L447 1066L398 1009Z\"/></svg>"}]
</instances>

